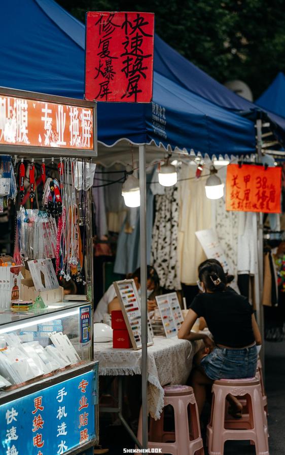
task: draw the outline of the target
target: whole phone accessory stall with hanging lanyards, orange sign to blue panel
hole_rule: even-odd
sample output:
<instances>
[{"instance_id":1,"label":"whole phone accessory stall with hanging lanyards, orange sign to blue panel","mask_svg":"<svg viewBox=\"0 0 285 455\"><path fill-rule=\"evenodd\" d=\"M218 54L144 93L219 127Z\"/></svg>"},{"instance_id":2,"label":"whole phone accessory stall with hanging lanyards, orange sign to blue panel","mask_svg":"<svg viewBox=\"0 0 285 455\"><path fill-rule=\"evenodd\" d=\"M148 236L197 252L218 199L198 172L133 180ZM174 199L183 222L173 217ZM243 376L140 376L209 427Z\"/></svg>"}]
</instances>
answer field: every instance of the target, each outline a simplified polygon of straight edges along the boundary
<instances>
[{"instance_id":1,"label":"whole phone accessory stall with hanging lanyards, orange sign to blue panel","mask_svg":"<svg viewBox=\"0 0 285 455\"><path fill-rule=\"evenodd\" d=\"M96 103L5 88L1 100L11 107L3 125L13 112L22 131L22 106L29 128L25 141L0 143L0 208L9 200L15 212L14 255L0 257L0 453L75 455L98 443ZM87 137L72 143L67 119L75 114Z\"/></svg>"}]
</instances>

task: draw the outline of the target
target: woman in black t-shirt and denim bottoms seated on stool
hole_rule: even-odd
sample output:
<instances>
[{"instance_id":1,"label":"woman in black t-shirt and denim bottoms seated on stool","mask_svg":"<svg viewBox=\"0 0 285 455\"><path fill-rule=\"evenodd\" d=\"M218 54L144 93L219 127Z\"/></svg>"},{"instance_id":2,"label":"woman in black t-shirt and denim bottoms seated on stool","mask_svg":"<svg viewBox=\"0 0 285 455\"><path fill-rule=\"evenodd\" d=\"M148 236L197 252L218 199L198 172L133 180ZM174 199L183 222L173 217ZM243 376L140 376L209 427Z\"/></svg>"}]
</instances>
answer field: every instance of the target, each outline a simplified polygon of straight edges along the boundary
<instances>
[{"instance_id":1,"label":"woman in black t-shirt and denim bottoms seated on stool","mask_svg":"<svg viewBox=\"0 0 285 455\"><path fill-rule=\"evenodd\" d=\"M203 340L205 349L200 365L193 370L192 387L201 415L206 386L217 379L252 378L256 374L257 344L261 335L247 299L227 289L223 268L205 263L199 270L204 293L193 300L178 337L185 340ZM204 317L215 343L203 333L191 332L197 317ZM233 395L227 397L230 413L241 417L242 405Z\"/></svg>"}]
</instances>

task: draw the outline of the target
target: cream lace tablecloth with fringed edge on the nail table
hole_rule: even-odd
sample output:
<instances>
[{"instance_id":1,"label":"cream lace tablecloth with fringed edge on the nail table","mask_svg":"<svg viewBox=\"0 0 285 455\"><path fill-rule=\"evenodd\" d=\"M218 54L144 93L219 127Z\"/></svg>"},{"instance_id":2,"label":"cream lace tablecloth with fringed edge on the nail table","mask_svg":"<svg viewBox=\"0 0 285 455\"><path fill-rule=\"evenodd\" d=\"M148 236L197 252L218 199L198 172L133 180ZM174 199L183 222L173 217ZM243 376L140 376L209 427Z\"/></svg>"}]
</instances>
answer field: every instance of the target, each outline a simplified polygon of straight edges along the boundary
<instances>
[{"instance_id":1,"label":"cream lace tablecloth with fringed edge on the nail table","mask_svg":"<svg viewBox=\"0 0 285 455\"><path fill-rule=\"evenodd\" d=\"M155 419L163 409L162 386L186 383L200 346L200 340L154 337L154 345L148 347L148 407ZM113 349L112 343L95 343L94 357L99 360L99 375L141 375L141 349Z\"/></svg>"}]
</instances>

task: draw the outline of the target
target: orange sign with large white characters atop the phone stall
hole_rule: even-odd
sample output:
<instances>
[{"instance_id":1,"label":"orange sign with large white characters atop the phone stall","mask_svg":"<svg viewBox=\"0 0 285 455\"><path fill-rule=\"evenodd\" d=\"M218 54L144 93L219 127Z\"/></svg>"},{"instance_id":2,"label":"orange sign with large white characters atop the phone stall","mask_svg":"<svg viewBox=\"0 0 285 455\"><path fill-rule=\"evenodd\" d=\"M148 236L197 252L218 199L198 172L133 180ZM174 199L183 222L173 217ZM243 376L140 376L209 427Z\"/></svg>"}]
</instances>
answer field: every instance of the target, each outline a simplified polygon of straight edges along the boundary
<instances>
[{"instance_id":1,"label":"orange sign with large white characters atop the phone stall","mask_svg":"<svg viewBox=\"0 0 285 455\"><path fill-rule=\"evenodd\" d=\"M93 109L0 94L0 144L93 150Z\"/></svg>"}]
</instances>

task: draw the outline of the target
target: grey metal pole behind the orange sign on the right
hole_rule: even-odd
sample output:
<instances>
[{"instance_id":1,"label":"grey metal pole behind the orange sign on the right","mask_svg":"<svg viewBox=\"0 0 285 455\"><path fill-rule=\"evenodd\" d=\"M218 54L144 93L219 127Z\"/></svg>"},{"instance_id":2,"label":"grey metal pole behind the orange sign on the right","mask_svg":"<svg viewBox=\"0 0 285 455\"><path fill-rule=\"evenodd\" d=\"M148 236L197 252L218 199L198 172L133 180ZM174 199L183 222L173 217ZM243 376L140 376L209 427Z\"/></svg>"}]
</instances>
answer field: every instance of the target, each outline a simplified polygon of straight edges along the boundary
<instances>
[{"instance_id":1,"label":"grey metal pole behind the orange sign on the right","mask_svg":"<svg viewBox=\"0 0 285 455\"><path fill-rule=\"evenodd\" d=\"M258 162L262 162L262 120L260 118L256 121L256 131L257 131L257 153L258 153ZM256 316L257 323L260 328L261 338L262 338L262 350L260 352L260 358L263 366L263 374L265 371L264 364L264 317L263 317L263 306L262 306L262 293L263 293L263 214L259 213L257 217L258 222L258 298L256 299ZM257 286L256 286L257 288Z\"/></svg>"}]
</instances>

